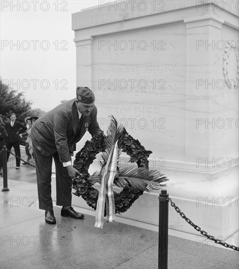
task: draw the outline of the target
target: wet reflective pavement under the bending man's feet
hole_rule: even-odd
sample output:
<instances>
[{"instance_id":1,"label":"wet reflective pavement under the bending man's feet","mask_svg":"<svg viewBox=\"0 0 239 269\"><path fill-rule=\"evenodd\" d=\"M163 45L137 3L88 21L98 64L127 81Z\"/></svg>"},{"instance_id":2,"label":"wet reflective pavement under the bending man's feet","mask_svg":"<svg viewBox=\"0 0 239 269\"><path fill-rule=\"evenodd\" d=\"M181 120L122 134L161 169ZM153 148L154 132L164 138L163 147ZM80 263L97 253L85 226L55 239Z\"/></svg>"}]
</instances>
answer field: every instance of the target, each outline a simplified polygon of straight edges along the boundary
<instances>
[{"instance_id":1,"label":"wet reflective pavement under the bending man's feet","mask_svg":"<svg viewBox=\"0 0 239 269\"><path fill-rule=\"evenodd\" d=\"M0 193L1 269L158 268L158 232L122 223L95 228L93 216L61 217L58 206L57 224L45 224L36 182L35 168L16 170L9 160L9 191ZM168 269L237 268L238 251L169 235Z\"/></svg>"}]
</instances>

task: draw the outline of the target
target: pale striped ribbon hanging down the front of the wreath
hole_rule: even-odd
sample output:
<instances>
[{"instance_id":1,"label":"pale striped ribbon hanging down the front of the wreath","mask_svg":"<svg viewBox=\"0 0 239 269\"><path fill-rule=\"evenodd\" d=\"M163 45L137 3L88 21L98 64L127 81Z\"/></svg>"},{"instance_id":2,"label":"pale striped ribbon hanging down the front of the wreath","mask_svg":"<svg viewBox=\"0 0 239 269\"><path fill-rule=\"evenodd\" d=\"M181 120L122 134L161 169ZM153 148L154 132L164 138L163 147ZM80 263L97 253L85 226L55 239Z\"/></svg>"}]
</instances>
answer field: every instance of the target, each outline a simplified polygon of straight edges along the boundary
<instances>
[{"instance_id":1,"label":"pale striped ribbon hanging down the front of the wreath","mask_svg":"<svg viewBox=\"0 0 239 269\"><path fill-rule=\"evenodd\" d=\"M106 222L115 221L115 200L113 192L113 182L117 171L117 158L118 158L118 141L116 142L114 148L111 149L101 179L100 192L96 209L95 227L97 228L103 228L105 202L106 202Z\"/></svg>"}]
</instances>

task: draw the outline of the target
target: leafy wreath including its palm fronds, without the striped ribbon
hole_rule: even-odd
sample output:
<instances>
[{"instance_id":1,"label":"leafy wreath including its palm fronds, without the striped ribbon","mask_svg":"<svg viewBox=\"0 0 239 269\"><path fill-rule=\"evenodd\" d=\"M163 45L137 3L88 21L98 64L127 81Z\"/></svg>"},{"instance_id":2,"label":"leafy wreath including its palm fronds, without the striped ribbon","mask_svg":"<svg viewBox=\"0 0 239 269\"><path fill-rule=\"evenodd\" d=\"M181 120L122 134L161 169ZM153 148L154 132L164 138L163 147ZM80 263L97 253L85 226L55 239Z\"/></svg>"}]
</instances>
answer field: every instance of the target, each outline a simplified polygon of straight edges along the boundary
<instances>
[{"instance_id":1,"label":"leafy wreath including its palm fronds, without the striped ribbon","mask_svg":"<svg viewBox=\"0 0 239 269\"><path fill-rule=\"evenodd\" d=\"M115 211L123 213L127 211L143 191L158 190L164 186L163 182L167 177L156 170L148 170L148 157L152 151L147 151L140 144L139 140L134 139L127 133L125 128L118 125L117 120L111 116L111 124L107 130L107 136L100 134L93 136L90 141L86 141L84 147L77 153L74 160L74 167L79 170L82 176L77 176L73 180L72 188L74 193L81 196L89 206L96 209L99 191L93 188L93 185L101 183L105 164L111 157L112 148L118 141L118 164L119 155L123 151L130 156L131 162L137 162L138 168L119 168L114 179L114 185L121 188L120 193L114 192ZM101 152L102 161L100 161L101 170L89 175L90 164ZM106 211L105 211L106 214Z\"/></svg>"}]
</instances>

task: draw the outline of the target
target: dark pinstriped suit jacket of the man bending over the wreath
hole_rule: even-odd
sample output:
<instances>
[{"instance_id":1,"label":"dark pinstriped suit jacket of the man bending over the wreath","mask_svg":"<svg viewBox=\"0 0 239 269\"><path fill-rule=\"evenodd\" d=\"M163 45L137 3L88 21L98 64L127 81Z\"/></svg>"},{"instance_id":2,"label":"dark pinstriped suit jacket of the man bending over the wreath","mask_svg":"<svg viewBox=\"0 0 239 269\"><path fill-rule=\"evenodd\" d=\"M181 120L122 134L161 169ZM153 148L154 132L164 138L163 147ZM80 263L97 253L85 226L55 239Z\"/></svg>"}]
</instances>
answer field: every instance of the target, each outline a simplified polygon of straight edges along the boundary
<instances>
[{"instance_id":1,"label":"dark pinstriped suit jacket of the man bending over the wreath","mask_svg":"<svg viewBox=\"0 0 239 269\"><path fill-rule=\"evenodd\" d=\"M102 133L97 122L96 106L89 116L84 116L79 130L80 119L75 100L60 104L34 122L31 130L32 143L43 156L50 156L58 151L61 162L70 161L73 145L85 134L87 123L92 136Z\"/></svg>"}]
</instances>

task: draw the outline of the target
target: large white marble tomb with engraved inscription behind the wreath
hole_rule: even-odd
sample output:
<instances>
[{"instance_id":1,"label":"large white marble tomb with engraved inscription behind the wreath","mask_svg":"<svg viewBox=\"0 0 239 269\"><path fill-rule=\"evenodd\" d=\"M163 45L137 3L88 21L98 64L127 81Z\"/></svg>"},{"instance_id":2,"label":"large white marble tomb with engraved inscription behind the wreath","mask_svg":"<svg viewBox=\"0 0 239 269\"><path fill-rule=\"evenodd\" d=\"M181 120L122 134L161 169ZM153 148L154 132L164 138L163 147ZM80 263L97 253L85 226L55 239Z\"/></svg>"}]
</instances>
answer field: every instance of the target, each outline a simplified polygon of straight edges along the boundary
<instances>
[{"instance_id":1,"label":"large white marble tomb with engraved inscription behind the wreath","mask_svg":"<svg viewBox=\"0 0 239 269\"><path fill-rule=\"evenodd\" d=\"M172 201L224 238L239 225L238 10L236 1L124 0L72 14L76 85L94 91L100 128L115 116L153 152ZM158 196L145 193L118 220L158 230ZM95 214L79 197L73 204ZM170 229L200 236L169 207Z\"/></svg>"}]
</instances>

